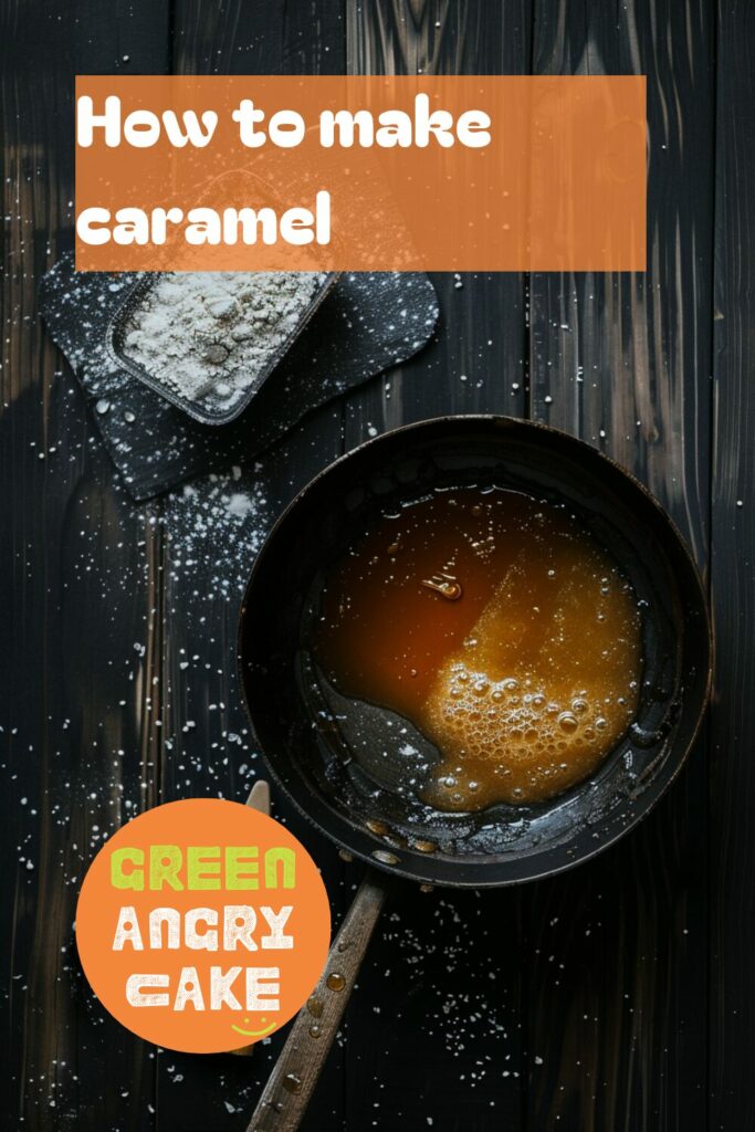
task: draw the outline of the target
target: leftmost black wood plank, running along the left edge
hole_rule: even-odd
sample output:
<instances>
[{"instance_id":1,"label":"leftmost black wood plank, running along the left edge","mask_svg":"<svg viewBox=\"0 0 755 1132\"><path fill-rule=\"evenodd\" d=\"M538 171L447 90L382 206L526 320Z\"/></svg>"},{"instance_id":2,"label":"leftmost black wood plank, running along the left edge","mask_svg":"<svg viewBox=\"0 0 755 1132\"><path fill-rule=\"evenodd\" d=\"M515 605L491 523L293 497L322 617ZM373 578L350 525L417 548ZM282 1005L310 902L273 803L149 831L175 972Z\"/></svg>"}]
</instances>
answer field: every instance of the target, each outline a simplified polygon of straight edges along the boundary
<instances>
[{"instance_id":1,"label":"leftmost black wood plank, running along the left edge","mask_svg":"<svg viewBox=\"0 0 755 1132\"><path fill-rule=\"evenodd\" d=\"M72 921L103 838L154 800L155 544L42 335L35 292L72 222L74 76L162 70L168 6L7 2L0 20L3 1126L146 1130L154 1062L84 984Z\"/></svg>"}]
</instances>

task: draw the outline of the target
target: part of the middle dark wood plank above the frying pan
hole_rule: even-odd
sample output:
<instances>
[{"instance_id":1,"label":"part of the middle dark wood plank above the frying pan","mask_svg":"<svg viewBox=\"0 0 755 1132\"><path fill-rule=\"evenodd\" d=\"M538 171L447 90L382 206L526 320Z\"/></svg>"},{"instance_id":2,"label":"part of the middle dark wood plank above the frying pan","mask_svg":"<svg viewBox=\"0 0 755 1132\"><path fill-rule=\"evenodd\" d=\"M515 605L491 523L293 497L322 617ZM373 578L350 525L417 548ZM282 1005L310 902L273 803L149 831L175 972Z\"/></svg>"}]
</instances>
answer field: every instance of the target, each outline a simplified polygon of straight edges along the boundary
<instances>
[{"instance_id":1,"label":"part of the middle dark wood plank above the frying pan","mask_svg":"<svg viewBox=\"0 0 755 1132\"><path fill-rule=\"evenodd\" d=\"M346 5L350 74L525 74L526 0L368 0ZM388 428L455 412L522 415L526 385L525 281L438 274L436 341L346 400L346 449Z\"/></svg>"}]
</instances>

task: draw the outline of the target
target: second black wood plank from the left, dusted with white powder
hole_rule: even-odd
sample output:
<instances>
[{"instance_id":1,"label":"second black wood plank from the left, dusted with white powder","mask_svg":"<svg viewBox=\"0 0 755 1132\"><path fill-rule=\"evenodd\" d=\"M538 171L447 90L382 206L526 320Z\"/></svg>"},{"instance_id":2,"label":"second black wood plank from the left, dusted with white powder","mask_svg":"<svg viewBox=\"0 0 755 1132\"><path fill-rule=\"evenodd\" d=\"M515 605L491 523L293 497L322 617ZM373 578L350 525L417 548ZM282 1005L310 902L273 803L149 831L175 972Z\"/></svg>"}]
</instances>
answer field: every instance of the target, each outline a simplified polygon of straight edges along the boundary
<instances>
[{"instance_id":1,"label":"second black wood plank from the left, dusted with white powder","mask_svg":"<svg viewBox=\"0 0 755 1132\"><path fill-rule=\"evenodd\" d=\"M179 74L343 74L341 0L277 5L263 0L177 0L174 66ZM258 461L228 477L201 477L165 497L165 588L161 616L161 800L222 796L244 800L264 774L250 749L235 683L235 635L242 584L275 515L342 452L342 409L326 405ZM235 499L235 503L232 500ZM229 505L237 516L229 517ZM246 512L246 514L244 514ZM312 852L337 921L351 899L336 850L274 791L274 814ZM158 1056L158 1129L244 1129L282 1035L251 1057ZM337 1129L343 1118L342 1050L336 1047L303 1125Z\"/></svg>"}]
</instances>

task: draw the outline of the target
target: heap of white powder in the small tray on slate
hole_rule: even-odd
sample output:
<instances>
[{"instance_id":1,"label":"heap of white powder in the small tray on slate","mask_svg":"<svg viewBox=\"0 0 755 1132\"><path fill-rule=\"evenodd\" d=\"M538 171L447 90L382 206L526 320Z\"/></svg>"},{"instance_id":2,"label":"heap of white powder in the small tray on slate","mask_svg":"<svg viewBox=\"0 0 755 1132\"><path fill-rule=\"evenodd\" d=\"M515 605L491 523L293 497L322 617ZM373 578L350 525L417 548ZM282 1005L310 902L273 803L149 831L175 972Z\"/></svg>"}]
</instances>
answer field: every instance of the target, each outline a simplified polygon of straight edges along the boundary
<instances>
[{"instance_id":1,"label":"heap of white powder in the small tray on slate","mask_svg":"<svg viewBox=\"0 0 755 1132\"><path fill-rule=\"evenodd\" d=\"M254 387L323 285L320 272L170 272L128 310L121 353L203 409Z\"/></svg>"}]
</instances>

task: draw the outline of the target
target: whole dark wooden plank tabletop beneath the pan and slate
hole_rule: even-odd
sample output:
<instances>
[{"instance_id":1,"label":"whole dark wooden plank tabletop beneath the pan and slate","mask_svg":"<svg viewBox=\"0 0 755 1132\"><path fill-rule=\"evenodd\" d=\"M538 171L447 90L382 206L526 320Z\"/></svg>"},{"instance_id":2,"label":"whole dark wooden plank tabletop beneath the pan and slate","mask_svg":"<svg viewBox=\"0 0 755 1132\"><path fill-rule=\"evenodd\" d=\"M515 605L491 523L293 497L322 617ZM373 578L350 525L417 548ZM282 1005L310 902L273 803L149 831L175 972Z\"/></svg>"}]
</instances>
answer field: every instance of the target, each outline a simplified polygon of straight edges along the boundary
<instances>
[{"instance_id":1,"label":"whole dark wooden plank tabletop beneath the pan and slate","mask_svg":"<svg viewBox=\"0 0 755 1132\"><path fill-rule=\"evenodd\" d=\"M233 641L264 530L230 547L198 533L207 479L135 508L36 318L70 238L72 77L119 69L647 75L647 273L438 276L437 341L239 483L267 522L371 430L447 411L548 420L668 506L718 634L706 734L630 838L517 891L396 893L308 1132L755 1127L755 6L2 0L0 53L3 1127L237 1132L280 1046L145 1046L92 1000L72 942L106 833L158 800L241 799L259 767ZM360 869L277 813L340 916Z\"/></svg>"}]
</instances>

